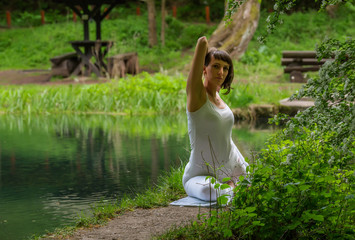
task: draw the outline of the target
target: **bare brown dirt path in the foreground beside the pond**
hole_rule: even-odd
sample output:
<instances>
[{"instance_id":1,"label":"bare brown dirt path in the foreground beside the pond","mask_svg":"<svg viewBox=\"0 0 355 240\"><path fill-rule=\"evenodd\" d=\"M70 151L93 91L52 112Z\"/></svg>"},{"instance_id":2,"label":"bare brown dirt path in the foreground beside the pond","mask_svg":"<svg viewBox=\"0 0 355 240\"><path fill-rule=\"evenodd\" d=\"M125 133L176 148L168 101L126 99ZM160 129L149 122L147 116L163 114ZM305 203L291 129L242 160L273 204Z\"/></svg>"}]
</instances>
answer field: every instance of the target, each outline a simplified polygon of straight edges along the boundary
<instances>
[{"instance_id":1,"label":"bare brown dirt path in the foreground beside the pond","mask_svg":"<svg viewBox=\"0 0 355 240\"><path fill-rule=\"evenodd\" d=\"M70 240L145 240L162 234L168 229L189 224L199 213L208 213L208 208L169 206L154 209L136 209L111 220L107 225L80 229ZM48 237L47 239L55 239ZM57 238L58 239L58 238Z\"/></svg>"}]
</instances>

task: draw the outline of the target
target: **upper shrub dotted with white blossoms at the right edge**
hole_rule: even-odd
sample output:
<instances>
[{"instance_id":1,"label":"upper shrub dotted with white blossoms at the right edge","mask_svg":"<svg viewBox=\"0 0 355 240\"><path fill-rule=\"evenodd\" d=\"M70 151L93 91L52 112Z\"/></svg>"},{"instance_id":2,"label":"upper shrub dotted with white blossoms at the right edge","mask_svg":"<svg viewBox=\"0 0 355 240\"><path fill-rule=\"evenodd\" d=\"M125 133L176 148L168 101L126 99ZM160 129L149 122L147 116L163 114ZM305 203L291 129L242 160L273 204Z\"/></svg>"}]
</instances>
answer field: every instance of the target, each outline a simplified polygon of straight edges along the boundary
<instances>
[{"instance_id":1,"label":"upper shrub dotted with white blossoms at the right edge","mask_svg":"<svg viewBox=\"0 0 355 240\"><path fill-rule=\"evenodd\" d=\"M355 41L326 40L317 48L317 57L334 60L327 61L319 75L291 97L312 97L315 106L288 123L288 135L306 127L344 155L354 157L351 149L355 133Z\"/></svg>"}]
</instances>

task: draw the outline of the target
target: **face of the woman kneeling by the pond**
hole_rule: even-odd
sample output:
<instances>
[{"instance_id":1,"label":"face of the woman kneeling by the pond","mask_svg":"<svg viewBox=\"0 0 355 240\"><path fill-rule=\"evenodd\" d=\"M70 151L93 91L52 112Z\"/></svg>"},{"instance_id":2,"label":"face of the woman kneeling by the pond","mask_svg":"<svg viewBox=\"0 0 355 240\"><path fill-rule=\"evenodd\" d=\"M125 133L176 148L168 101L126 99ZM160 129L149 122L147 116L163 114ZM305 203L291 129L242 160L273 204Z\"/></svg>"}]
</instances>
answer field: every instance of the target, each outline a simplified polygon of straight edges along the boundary
<instances>
[{"instance_id":1,"label":"face of the woman kneeling by the pond","mask_svg":"<svg viewBox=\"0 0 355 240\"><path fill-rule=\"evenodd\" d=\"M205 80L220 87L226 79L229 71L229 64L225 61L215 59L213 56L211 62L204 68Z\"/></svg>"}]
</instances>

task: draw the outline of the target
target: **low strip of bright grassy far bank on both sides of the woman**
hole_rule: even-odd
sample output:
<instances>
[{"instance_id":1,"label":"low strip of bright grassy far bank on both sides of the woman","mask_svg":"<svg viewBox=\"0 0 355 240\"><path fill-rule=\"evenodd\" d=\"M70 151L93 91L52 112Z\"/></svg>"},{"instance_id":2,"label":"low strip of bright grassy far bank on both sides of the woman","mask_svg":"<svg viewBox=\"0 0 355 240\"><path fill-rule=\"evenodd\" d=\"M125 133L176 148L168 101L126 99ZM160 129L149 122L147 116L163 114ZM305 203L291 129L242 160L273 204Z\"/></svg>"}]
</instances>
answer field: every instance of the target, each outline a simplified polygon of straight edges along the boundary
<instances>
[{"instance_id":1,"label":"low strip of bright grassy far bank on both sides of the woman","mask_svg":"<svg viewBox=\"0 0 355 240\"><path fill-rule=\"evenodd\" d=\"M241 83L225 102L232 108L251 103L278 104L300 84ZM186 81L182 75L142 73L90 85L29 85L0 87L0 111L7 113L169 114L185 110ZM276 97L277 96L277 97Z\"/></svg>"}]
</instances>

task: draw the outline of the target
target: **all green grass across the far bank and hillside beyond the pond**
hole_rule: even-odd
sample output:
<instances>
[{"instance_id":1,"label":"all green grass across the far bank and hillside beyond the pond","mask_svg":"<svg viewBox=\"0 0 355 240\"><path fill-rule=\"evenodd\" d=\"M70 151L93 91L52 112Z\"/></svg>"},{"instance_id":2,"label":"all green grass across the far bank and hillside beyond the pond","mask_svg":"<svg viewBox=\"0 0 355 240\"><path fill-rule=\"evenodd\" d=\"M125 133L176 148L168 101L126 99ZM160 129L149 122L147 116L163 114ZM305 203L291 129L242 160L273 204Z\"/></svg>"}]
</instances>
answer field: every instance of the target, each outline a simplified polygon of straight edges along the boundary
<instances>
[{"instance_id":1,"label":"all green grass across the far bank and hillside beyond the pond","mask_svg":"<svg viewBox=\"0 0 355 240\"><path fill-rule=\"evenodd\" d=\"M283 50L313 50L325 37L344 39L355 35L354 9L343 6L336 18L326 13L294 13L284 16L284 23L265 45L257 37L265 33L266 12L262 11L259 27L248 50L235 61L234 90L225 101L231 107L250 104L278 104L300 88L283 73ZM159 16L157 18L159 34ZM102 38L115 42L110 54L136 51L142 69L160 74L143 74L117 82L92 86L0 87L0 110L6 112L123 112L126 114L183 111L184 79L196 39L209 36L216 26L187 23L167 18L166 46L149 48L147 16L122 15L105 20ZM95 26L90 24L91 39ZM48 69L53 56L73 51L71 40L82 39L82 24L67 21L38 27L14 28L0 35L0 69ZM182 49L188 49L182 54ZM187 54L186 54L187 53ZM169 75L169 76L163 76ZM183 75L183 76L182 76ZM311 75L311 74L310 74ZM163 80L162 80L163 79ZM55 81L60 81L56 79ZM146 81L155 87L151 88ZM158 83L159 82L159 83ZM171 84L175 86L171 88ZM164 89L166 88L167 91ZM170 92L169 92L170 91Z\"/></svg>"}]
</instances>

